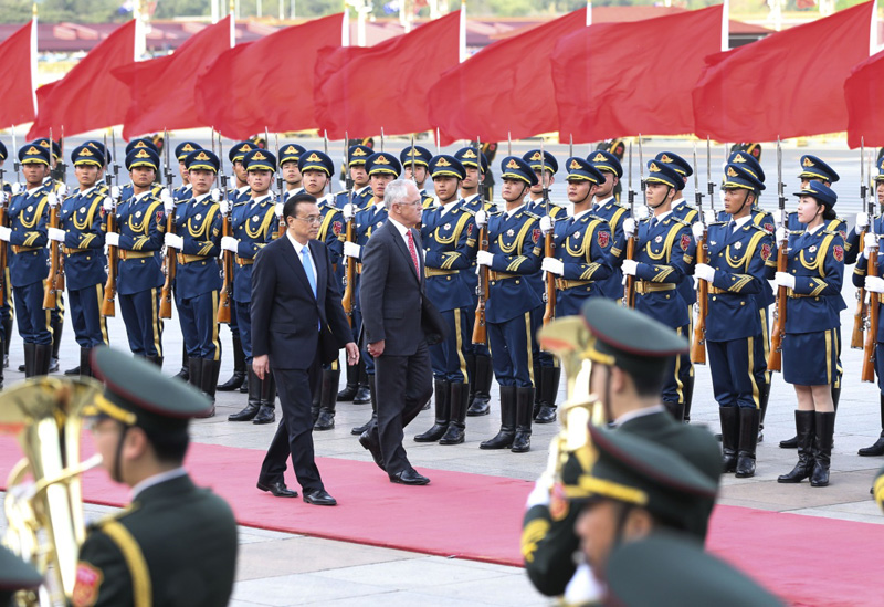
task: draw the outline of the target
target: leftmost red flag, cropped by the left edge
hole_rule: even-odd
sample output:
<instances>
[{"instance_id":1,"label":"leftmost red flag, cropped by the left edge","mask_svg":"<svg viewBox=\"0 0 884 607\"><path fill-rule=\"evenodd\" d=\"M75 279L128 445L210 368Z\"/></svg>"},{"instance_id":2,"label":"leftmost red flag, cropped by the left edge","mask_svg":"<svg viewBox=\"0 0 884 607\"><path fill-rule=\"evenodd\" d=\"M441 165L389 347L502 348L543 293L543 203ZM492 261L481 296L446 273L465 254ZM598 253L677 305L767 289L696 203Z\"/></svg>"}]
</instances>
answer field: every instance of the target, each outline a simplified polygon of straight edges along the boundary
<instances>
[{"instance_id":1,"label":"leftmost red flag, cropped by the left edge","mask_svg":"<svg viewBox=\"0 0 884 607\"><path fill-rule=\"evenodd\" d=\"M36 115L36 20L0 44L0 128L30 123ZM17 153L18 150L14 150Z\"/></svg>"}]
</instances>

